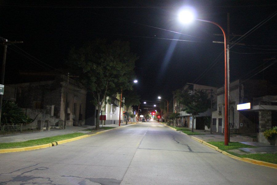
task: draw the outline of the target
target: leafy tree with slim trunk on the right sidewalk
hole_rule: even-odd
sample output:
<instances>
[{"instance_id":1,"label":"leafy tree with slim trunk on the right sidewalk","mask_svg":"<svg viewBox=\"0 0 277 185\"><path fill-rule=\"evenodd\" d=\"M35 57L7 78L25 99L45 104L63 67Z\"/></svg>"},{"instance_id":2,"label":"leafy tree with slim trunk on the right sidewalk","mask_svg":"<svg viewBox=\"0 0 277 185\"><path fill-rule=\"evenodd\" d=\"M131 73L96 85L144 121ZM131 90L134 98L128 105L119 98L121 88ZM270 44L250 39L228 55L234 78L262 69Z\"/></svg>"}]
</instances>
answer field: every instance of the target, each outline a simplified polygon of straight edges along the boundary
<instances>
[{"instance_id":1,"label":"leafy tree with slim trunk on the right sidewalk","mask_svg":"<svg viewBox=\"0 0 277 185\"><path fill-rule=\"evenodd\" d=\"M199 113L207 111L210 107L210 98L206 91L195 90L193 93L188 90L177 90L176 98L179 104L183 105L182 111L186 111L188 114L192 114L192 129L194 131L194 118Z\"/></svg>"}]
</instances>

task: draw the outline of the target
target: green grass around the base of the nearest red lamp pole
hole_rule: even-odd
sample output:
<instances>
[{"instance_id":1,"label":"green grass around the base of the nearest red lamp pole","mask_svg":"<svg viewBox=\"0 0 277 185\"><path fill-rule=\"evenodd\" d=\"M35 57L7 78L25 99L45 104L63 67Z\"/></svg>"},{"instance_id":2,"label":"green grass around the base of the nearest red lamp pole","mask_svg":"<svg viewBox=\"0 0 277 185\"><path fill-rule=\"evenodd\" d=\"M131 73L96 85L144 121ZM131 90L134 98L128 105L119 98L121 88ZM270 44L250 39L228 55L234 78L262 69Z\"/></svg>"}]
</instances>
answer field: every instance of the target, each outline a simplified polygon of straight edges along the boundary
<instances>
[{"instance_id":1,"label":"green grass around the base of the nearest red lamp pole","mask_svg":"<svg viewBox=\"0 0 277 185\"><path fill-rule=\"evenodd\" d=\"M239 149L239 148L257 148L256 146L245 145L239 142L230 142L228 146L225 146L224 142L208 142L208 143L210 143L211 145L217 146L220 150L227 151L228 153L241 158L251 158L259 161L271 162L271 163L277 164L277 154L248 154L248 153L236 154L234 152L228 151L228 150Z\"/></svg>"}]
</instances>

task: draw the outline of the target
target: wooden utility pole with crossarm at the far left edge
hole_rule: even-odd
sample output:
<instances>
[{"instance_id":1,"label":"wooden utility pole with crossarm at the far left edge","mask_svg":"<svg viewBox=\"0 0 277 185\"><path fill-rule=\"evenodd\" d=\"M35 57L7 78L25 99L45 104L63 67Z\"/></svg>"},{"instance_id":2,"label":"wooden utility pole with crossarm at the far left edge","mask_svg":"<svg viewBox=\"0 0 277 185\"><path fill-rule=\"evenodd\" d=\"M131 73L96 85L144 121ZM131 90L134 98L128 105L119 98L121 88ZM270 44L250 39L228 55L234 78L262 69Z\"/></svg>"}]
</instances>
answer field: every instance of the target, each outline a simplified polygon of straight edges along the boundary
<instances>
[{"instance_id":1,"label":"wooden utility pole with crossarm at the far left edge","mask_svg":"<svg viewBox=\"0 0 277 185\"><path fill-rule=\"evenodd\" d=\"M10 44L16 44L16 43L23 43L23 41L14 41L10 42L7 39L4 39L0 37L1 39L1 45L4 46L4 54L3 54L3 64L2 64L2 72L1 72L1 81L0 84L4 85L4 78L5 78L5 67L6 67L6 55L7 55L7 46ZM4 93L0 95L0 124L1 124L1 114L2 114L2 101L3 101Z\"/></svg>"}]
</instances>

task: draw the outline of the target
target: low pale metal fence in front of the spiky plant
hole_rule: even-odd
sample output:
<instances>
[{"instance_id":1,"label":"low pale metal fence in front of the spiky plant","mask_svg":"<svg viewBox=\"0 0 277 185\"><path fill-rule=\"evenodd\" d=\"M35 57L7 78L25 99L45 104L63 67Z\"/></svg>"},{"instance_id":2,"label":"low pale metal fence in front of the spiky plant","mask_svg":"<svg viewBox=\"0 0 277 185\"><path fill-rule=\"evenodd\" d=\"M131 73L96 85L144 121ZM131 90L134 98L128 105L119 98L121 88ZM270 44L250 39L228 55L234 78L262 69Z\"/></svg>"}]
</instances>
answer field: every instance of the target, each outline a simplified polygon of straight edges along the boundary
<instances>
[{"instance_id":1,"label":"low pale metal fence in front of the spiky plant","mask_svg":"<svg viewBox=\"0 0 277 185\"><path fill-rule=\"evenodd\" d=\"M38 123L20 123L20 124L2 124L0 125L1 132L17 132L24 130L38 130Z\"/></svg>"}]
</instances>

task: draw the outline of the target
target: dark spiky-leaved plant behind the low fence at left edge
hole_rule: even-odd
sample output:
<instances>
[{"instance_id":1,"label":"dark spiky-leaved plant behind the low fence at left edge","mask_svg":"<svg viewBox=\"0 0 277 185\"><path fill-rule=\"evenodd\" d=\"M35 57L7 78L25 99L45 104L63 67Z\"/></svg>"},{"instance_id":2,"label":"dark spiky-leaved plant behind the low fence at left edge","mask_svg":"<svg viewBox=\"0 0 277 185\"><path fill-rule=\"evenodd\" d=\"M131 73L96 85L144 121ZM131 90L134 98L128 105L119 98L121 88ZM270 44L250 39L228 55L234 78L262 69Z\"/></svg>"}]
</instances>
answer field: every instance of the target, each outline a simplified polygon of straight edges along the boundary
<instances>
[{"instance_id":1,"label":"dark spiky-leaved plant behind the low fence at left edge","mask_svg":"<svg viewBox=\"0 0 277 185\"><path fill-rule=\"evenodd\" d=\"M1 124L28 123L30 118L17 104L11 101L4 101L2 104Z\"/></svg>"}]
</instances>

